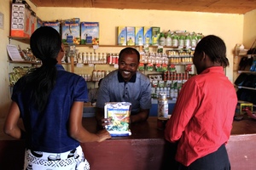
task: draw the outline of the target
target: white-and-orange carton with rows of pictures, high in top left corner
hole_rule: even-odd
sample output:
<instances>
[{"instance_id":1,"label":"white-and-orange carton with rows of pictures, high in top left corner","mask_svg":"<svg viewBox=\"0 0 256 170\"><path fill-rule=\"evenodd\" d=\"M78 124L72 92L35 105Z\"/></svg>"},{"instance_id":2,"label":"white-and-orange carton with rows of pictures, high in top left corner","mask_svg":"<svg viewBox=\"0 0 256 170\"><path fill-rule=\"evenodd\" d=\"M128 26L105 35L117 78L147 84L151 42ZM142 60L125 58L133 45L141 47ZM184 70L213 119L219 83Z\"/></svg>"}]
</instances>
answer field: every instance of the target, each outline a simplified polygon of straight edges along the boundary
<instances>
[{"instance_id":1,"label":"white-and-orange carton with rows of pictures, high in top left corner","mask_svg":"<svg viewBox=\"0 0 256 170\"><path fill-rule=\"evenodd\" d=\"M30 37L31 10L27 3L12 3L10 36Z\"/></svg>"}]
</instances>

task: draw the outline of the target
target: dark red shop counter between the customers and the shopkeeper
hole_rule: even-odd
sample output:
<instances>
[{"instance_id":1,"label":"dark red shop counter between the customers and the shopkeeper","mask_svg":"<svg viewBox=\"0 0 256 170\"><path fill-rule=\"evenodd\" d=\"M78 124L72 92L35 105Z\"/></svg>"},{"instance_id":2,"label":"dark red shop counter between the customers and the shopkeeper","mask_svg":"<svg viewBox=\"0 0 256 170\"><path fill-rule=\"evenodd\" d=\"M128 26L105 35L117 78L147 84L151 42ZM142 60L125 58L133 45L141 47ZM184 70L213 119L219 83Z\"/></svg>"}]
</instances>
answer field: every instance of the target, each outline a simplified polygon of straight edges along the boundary
<instances>
[{"instance_id":1,"label":"dark red shop counter between the customers and the shopkeeper","mask_svg":"<svg viewBox=\"0 0 256 170\"><path fill-rule=\"evenodd\" d=\"M83 124L90 132L96 132L94 117L84 117ZM156 116L150 116L147 122L131 124L131 136L81 145L91 170L162 170L163 161L171 156L164 131L157 129ZM226 147L232 170L255 169L256 121L245 118L234 122ZM0 169L21 169L24 149L24 140L0 139Z\"/></svg>"}]
</instances>

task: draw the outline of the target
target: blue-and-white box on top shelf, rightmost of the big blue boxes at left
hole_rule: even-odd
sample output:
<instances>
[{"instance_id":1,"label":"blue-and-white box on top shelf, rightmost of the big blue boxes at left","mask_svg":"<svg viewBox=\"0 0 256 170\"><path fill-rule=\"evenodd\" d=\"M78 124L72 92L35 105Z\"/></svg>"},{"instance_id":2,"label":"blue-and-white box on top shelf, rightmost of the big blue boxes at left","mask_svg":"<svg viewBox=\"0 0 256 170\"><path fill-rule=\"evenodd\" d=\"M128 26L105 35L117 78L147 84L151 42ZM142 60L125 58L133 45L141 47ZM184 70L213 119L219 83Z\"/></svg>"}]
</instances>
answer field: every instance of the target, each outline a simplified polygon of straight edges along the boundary
<instances>
[{"instance_id":1,"label":"blue-and-white box on top shelf, rightmost of the big blue boxes at left","mask_svg":"<svg viewBox=\"0 0 256 170\"><path fill-rule=\"evenodd\" d=\"M81 44L98 45L100 42L98 22L81 22Z\"/></svg>"}]
</instances>

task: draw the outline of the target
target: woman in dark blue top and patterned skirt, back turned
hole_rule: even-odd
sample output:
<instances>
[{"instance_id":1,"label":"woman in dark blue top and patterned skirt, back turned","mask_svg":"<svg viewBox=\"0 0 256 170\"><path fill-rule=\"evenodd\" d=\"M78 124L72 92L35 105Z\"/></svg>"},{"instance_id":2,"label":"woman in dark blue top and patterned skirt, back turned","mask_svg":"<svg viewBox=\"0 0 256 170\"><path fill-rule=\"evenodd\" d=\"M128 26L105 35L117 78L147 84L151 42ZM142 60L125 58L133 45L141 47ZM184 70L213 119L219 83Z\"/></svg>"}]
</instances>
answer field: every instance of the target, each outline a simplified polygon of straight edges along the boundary
<instances>
[{"instance_id":1,"label":"woman in dark blue top and patterned skirt, back turned","mask_svg":"<svg viewBox=\"0 0 256 170\"><path fill-rule=\"evenodd\" d=\"M64 46L54 28L38 28L30 44L42 65L15 83L3 130L26 139L24 169L90 169L80 143L102 142L110 134L90 133L82 125L86 82L61 65ZM25 130L17 124L20 117Z\"/></svg>"}]
</instances>

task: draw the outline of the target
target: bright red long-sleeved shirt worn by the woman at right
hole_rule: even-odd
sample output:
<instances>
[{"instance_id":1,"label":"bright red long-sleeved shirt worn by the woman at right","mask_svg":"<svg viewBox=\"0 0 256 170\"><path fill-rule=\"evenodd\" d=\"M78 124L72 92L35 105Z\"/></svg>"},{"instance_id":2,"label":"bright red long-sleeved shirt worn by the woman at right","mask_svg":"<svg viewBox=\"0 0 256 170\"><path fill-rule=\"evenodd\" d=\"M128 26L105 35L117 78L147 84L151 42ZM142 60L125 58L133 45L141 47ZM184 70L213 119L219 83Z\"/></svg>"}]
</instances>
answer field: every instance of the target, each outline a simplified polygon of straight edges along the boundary
<instances>
[{"instance_id":1,"label":"bright red long-sleeved shirt worn by the woman at right","mask_svg":"<svg viewBox=\"0 0 256 170\"><path fill-rule=\"evenodd\" d=\"M236 90L221 66L185 82L165 130L166 140L178 141L176 160L189 166L226 143L236 104Z\"/></svg>"}]
</instances>

